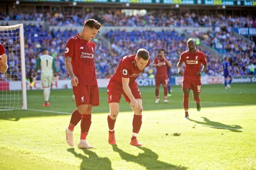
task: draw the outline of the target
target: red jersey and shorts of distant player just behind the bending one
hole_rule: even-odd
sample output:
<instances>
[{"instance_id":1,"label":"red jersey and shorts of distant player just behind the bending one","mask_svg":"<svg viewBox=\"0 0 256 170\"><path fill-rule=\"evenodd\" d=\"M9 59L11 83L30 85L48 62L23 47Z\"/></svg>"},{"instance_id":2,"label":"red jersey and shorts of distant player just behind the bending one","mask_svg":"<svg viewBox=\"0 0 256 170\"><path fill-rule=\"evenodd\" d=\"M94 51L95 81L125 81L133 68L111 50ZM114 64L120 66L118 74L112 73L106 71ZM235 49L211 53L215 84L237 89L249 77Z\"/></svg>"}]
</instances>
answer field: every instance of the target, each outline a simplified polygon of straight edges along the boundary
<instances>
[{"instance_id":1,"label":"red jersey and shorts of distant player just behind the bending one","mask_svg":"<svg viewBox=\"0 0 256 170\"><path fill-rule=\"evenodd\" d=\"M156 86L160 86L161 84L168 84L168 76L167 76L167 63L162 57L156 57L154 59L154 64L160 64L157 66L157 74L155 77Z\"/></svg>"}]
</instances>

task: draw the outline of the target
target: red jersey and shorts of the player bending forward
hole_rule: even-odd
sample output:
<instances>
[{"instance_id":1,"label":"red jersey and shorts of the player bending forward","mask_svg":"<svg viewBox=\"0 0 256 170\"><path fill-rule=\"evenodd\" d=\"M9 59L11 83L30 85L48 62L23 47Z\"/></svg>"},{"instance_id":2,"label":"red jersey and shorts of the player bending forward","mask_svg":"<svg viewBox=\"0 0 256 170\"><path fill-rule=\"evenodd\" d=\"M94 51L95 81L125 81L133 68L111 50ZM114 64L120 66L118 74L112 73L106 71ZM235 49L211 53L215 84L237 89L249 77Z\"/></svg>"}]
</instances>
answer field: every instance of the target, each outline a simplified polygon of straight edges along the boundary
<instances>
[{"instance_id":1,"label":"red jersey and shorts of the player bending forward","mask_svg":"<svg viewBox=\"0 0 256 170\"><path fill-rule=\"evenodd\" d=\"M129 78L129 87L131 89L132 95L135 97L135 99L141 99L140 90L135 79L137 79L137 77L141 72L143 72L143 70L139 70L137 68L135 57L136 54L133 54L122 57L122 59L120 60L119 65L116 68L116 72L110 78L108 83L108 103L119 103L122 94L124 95L126 102L131 102L128 96L123 91L122 77ZM150 59L148 59L148 64L145 67L147 67L149 64Z\"/></svg>"}]
</instances>

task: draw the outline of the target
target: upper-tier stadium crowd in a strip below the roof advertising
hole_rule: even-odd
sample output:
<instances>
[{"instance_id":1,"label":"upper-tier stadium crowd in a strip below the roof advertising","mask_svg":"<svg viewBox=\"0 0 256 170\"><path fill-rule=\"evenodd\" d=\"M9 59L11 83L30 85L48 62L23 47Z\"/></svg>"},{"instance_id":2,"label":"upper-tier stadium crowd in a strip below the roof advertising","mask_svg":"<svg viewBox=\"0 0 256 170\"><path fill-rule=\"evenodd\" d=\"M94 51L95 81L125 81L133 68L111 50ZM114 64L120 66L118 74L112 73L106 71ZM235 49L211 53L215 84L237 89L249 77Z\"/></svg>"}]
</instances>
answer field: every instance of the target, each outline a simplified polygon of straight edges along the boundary
<instances>
[{"instance_id":1,"label":"upper-tier stadium crowd in a strip below the roof advertising","mask_svg":"<svg viewBox=\"0 0 256 170\"><path fill-rule=\"evenodd\" d=\"M195 13L175 13L166 11L161 14L128 16L121 10L99 12L93 14L87 12L76 12L70 14L67 12L47 13L20 13L4 15L0 13L0 20L36 20L46 21L50 26L83 26L84 21L88 18L96 18L104 26L165 26L165 27L215 27L227 25L231 27L256 27L256 18L251 16L224 16L218 15L197 15Z\"/></svg>"}]
</instances>

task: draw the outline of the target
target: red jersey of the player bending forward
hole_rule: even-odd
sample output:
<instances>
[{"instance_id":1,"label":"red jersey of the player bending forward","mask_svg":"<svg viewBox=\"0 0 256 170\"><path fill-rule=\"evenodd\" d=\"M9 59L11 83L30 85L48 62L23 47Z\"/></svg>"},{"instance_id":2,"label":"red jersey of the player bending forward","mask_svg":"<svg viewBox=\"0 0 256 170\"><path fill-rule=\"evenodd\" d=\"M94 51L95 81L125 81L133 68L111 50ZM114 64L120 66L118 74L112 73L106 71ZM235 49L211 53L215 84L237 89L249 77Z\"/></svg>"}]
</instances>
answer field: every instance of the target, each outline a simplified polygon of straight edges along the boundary
<instances>
[{"instance_id":1,"label":"red jersey of the player bending forward","mask_svg":"<svg viewBox=\"0 0 256 170\"><path fill-rule=\"evenodd\" d=\"M112 83L118 85L119 87L122 87L122 77L130 79L129 86L134 84L135 79L137 79L139 74L143 72L143 70L139 70L139 68L137 68L135 57L136 54L122 57L118 67L116 68L116 72L110 78L109 84ZM146 67L149 64L150 58L148 59L148 64L146 65Z\"/></svg>"}]
</instances>

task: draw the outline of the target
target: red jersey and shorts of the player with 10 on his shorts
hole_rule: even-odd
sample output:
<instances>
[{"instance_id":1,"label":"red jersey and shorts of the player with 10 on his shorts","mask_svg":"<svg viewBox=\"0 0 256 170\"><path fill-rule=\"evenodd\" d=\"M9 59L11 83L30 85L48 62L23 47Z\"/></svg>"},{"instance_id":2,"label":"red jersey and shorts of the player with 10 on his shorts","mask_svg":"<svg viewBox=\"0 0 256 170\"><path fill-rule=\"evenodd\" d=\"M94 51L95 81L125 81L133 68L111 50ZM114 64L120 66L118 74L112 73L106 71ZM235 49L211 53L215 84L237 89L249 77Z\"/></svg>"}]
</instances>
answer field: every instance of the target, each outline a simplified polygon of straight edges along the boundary
<instances>
[{"instance_id":1,"label":"red jersey and shorts of the player with 10 on his shorts","mask_svg":"<svg viewBox=\"0 0 256 170\"><path fill-rule=\"evenodd\" d=\"M203 52L195 50L194 54L185 51L180 54L180 64L185 62L185 68L182 79L182 89L191 88L193 91L200 93L201 77L196 74L200 71L201 63L207 64L206 57Z\"/></svg>"}]
</instances>

